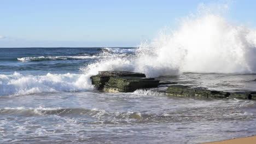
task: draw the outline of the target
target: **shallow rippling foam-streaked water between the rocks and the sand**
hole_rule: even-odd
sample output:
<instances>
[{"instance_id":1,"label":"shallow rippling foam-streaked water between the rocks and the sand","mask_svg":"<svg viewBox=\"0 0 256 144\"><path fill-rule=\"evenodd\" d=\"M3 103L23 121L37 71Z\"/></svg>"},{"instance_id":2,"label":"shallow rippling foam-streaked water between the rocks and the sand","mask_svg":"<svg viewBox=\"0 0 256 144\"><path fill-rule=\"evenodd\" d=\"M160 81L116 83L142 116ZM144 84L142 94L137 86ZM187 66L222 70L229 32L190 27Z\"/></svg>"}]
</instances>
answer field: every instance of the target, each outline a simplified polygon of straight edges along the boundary
<instances>
[{"instance_id":1,"label":"shallow rippling foam-streaked water between the rocks and the sand","mask_svg":"<svg viewBox=\"0 0 256 144\"><path fill-rule=\"evenodd\" d=\"M138 93L1 97L1 143L198 143L256 134L255 101Z\"/></svg>"}]
</instances>

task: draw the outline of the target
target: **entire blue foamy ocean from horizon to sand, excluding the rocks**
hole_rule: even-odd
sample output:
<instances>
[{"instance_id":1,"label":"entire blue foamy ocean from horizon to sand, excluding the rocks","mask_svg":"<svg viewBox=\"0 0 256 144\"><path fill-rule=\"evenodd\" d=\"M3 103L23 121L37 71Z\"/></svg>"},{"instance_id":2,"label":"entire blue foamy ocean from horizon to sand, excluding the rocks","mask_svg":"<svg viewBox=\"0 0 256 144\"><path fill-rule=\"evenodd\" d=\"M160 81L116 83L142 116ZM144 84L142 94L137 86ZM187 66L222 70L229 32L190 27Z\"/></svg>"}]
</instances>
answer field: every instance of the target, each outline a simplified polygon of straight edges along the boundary
<instances>
[{"instance_id":1,"label":"entire blue foamy ocean from horizon to sand, excluding the rocks","mask_svg":"<svg viewBox=\"0 0 256 144\"><path fill-rule=\"evenodd\" d=\"M253 100L175 98L152 89L104 93L91 85L99 70L126 70L192 87L256 91L248 63L251 69L240 62L234 71L233 62L225 71L214 63L202 69L195 59L191 70L191 59L181 64L182 53L163 50L1 48L0 143L200 143L256 135Z\"/></svg>"}]
</instances>

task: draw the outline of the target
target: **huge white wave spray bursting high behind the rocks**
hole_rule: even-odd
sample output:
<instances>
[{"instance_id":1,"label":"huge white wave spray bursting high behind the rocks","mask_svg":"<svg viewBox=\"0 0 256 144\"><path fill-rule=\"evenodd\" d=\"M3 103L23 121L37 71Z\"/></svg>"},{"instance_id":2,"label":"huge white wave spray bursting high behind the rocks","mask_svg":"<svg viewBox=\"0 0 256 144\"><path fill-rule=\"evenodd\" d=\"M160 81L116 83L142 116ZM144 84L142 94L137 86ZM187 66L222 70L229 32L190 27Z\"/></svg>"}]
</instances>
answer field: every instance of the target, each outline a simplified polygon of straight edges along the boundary
<instances>
[{"instance_id":1,"label":"huge white wave spray bursting high behind the rocks","mask_svg":"<svg viewBox=\"0 0 256 144\"><path fill-rule=\"evenodd\" d=\"M85 68L129 70L148 77L193 73L256 73L256 31L236 26L210 11L182 19L179 27L137 48L136 57L101 59Z\"/></svg>"}]
</instances>

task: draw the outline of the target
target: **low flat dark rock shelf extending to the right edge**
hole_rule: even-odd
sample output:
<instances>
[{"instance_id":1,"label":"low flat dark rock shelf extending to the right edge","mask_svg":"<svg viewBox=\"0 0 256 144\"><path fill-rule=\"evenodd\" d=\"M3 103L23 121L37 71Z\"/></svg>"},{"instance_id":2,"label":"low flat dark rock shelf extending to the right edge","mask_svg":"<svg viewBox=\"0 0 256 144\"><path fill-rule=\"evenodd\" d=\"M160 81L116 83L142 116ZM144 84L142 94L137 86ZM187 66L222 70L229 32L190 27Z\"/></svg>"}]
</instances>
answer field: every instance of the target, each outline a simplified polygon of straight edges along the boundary
<instances>
[{"instance_id":1,"label":"low flat dark rock shelf extending to the right edge","mask_svg":"<svg viewBox=\"0 0 256 144\"><path fill-rule=\"evenodd\" d=\"M166 93L177 97L201 97L201 98L239 98L256 100L256 92L223 92L210 91L202 88L191 88L183 85L173 85L167 88Z\"/></svg>"}]
</instances>

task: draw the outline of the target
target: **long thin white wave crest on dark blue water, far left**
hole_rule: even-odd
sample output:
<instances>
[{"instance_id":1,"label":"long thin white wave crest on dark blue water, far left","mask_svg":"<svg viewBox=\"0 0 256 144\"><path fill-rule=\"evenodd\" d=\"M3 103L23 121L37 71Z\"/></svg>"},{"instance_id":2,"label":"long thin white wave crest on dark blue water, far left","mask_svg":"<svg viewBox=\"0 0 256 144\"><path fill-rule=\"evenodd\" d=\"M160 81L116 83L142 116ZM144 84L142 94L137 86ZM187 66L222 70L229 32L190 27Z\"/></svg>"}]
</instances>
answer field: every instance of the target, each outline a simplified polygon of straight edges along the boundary
<instances>
[{"instance_id":1,"label":"long thin white wave crest on dark blue water, far left","mask_svg":"<svg viewBox=\"0 0 256 144\"><path fill-rule=\"evenodd\" d=\"M75 59L94 59L97 56L40 56L40 57L21 57L17 58L21 62L34 62L34 61L61 61L61 60L75 60Z\"/></svg>"}]
</instances>

